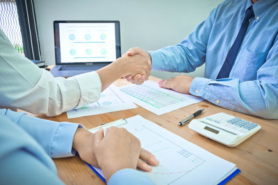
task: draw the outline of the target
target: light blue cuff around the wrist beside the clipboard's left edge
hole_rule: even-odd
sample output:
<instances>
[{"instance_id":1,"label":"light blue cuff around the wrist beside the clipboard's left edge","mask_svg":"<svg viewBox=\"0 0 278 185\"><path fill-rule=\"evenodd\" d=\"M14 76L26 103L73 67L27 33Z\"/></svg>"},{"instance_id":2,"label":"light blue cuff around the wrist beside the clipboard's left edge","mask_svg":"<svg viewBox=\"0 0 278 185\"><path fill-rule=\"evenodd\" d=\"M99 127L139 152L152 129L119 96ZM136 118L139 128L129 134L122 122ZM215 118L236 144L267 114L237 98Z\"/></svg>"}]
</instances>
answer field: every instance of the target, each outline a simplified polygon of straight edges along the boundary
<instances>
[{"instance_id":1,"label":"light blue cuff around the wrist beside the clipboard's left edge","mask_svg":"<svg viewBox=\"0 0 278 185\"><path fill-rule=\"evenodd\" d=\"M76 150L72 148L72 142L78 127L83 127L83 125L67 122L58 125L50 146L52 158L72 157L76 154Z\"/></svg>"}]
</instances>

